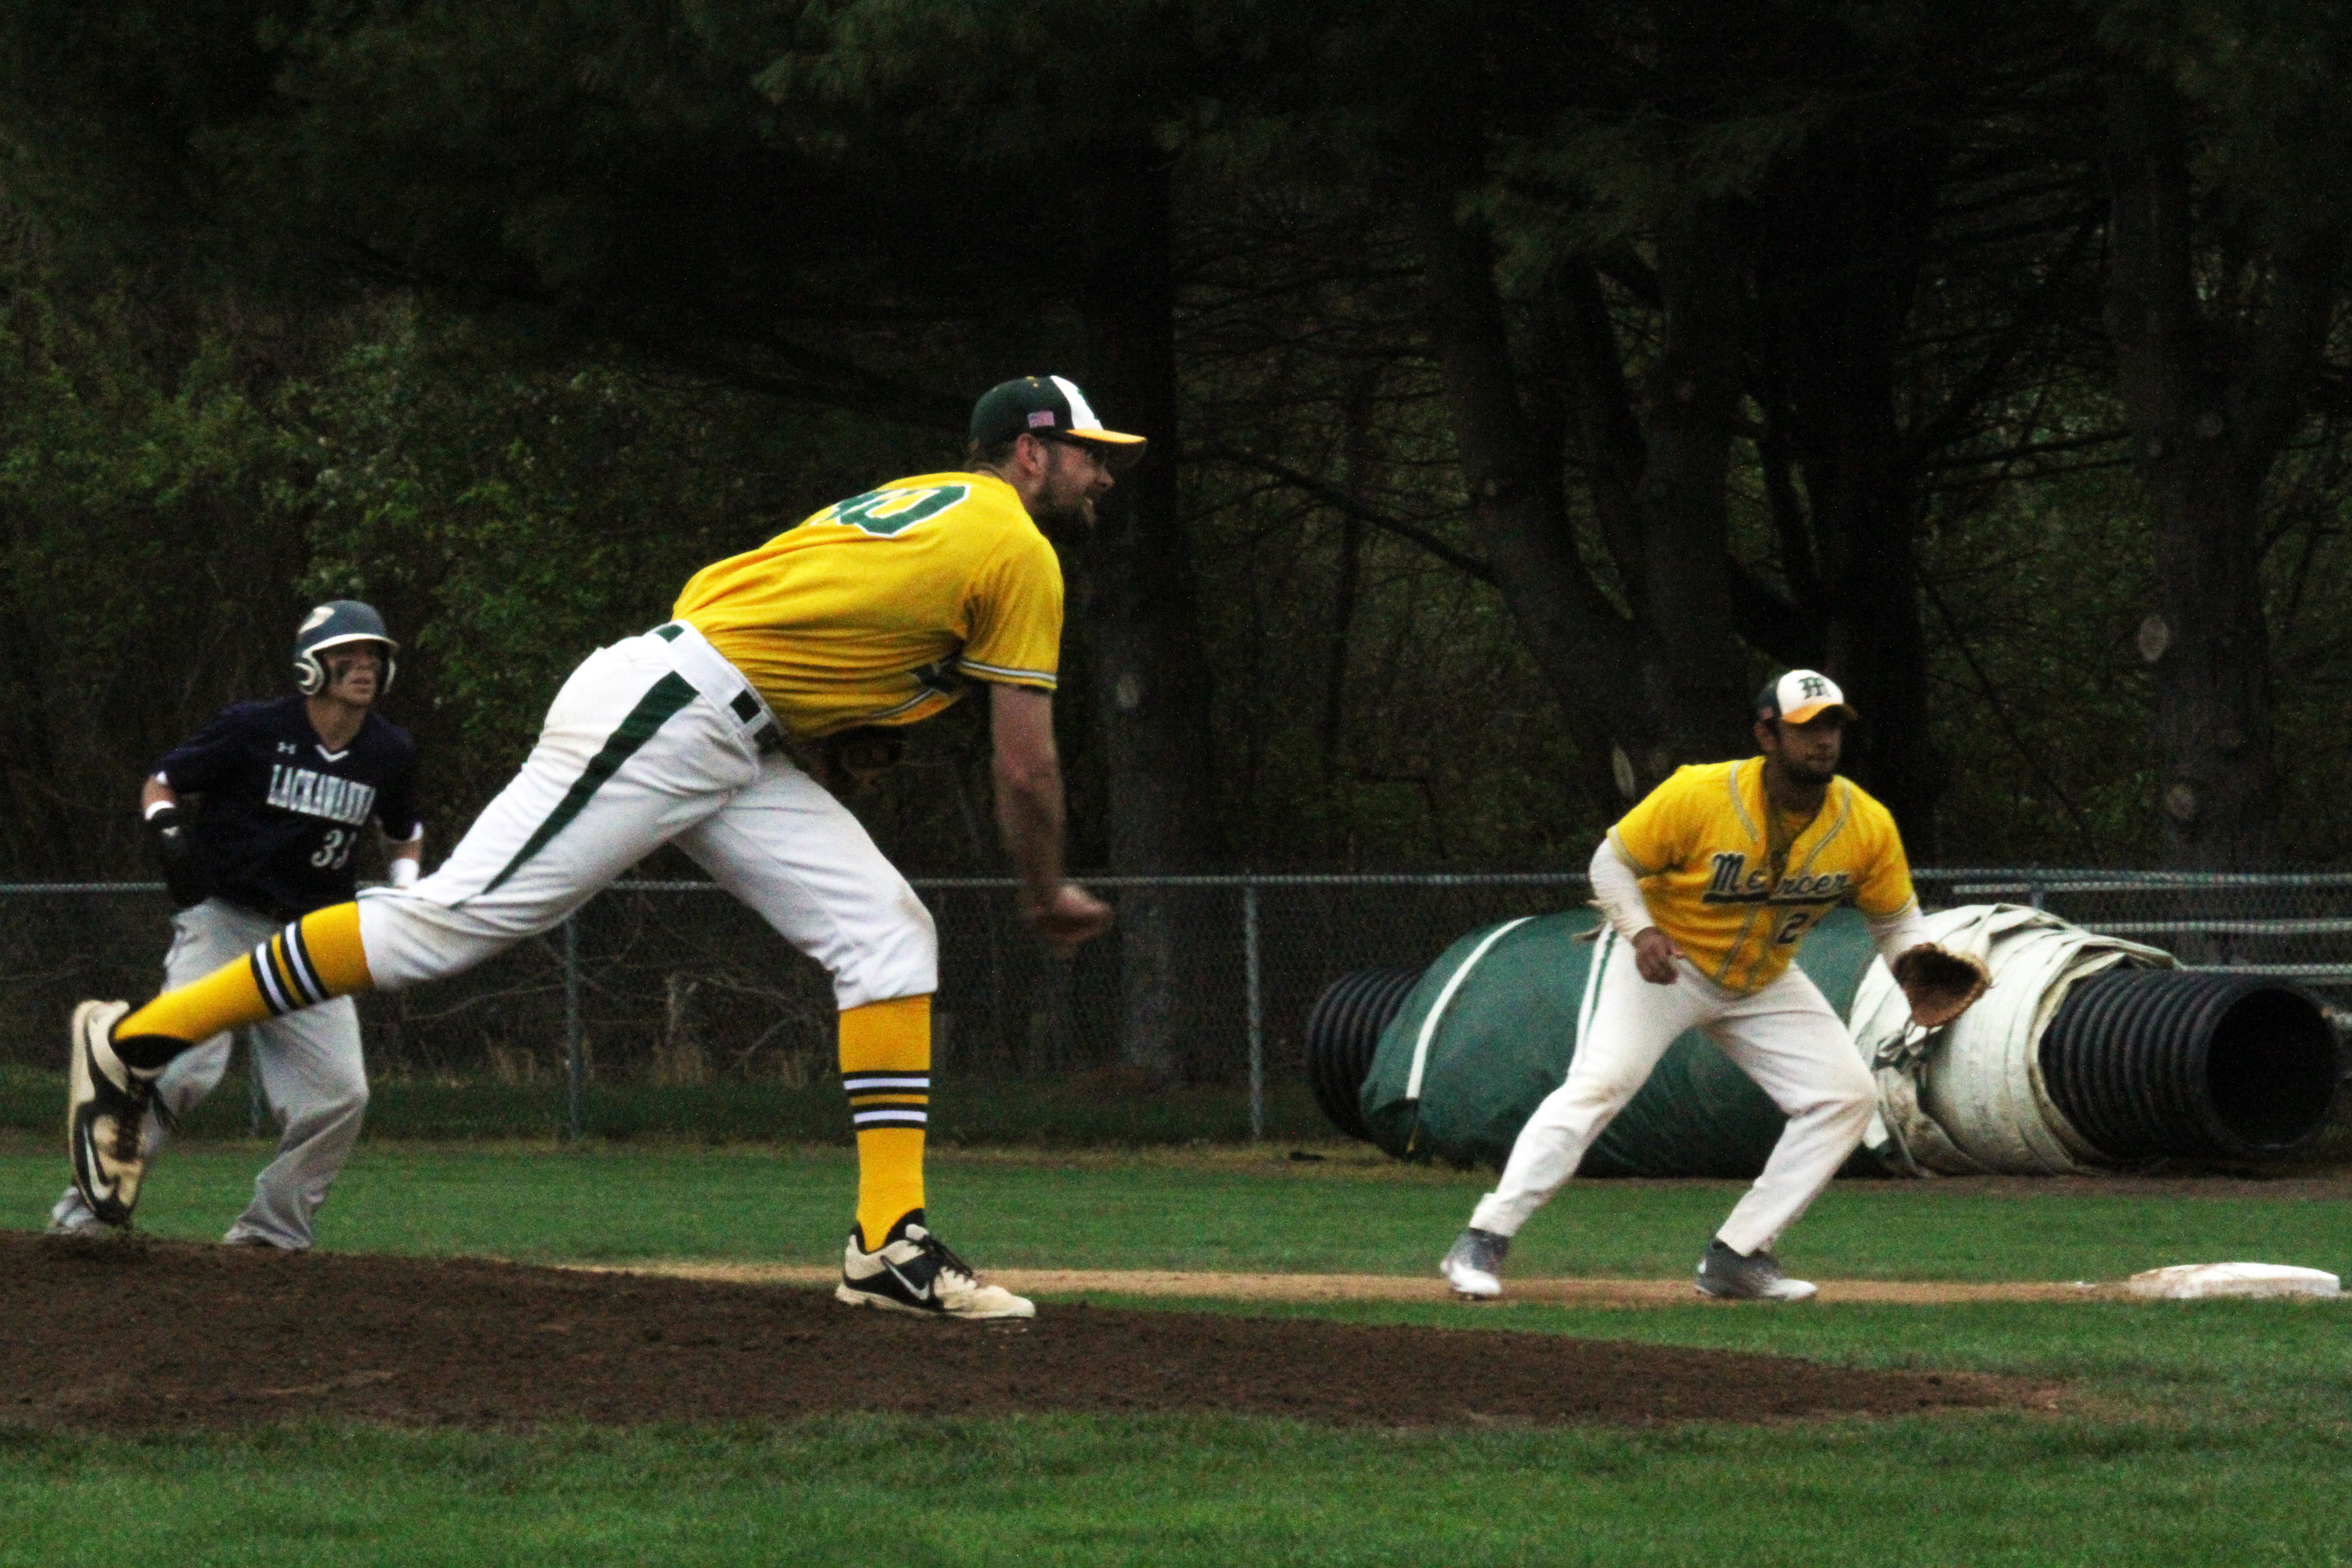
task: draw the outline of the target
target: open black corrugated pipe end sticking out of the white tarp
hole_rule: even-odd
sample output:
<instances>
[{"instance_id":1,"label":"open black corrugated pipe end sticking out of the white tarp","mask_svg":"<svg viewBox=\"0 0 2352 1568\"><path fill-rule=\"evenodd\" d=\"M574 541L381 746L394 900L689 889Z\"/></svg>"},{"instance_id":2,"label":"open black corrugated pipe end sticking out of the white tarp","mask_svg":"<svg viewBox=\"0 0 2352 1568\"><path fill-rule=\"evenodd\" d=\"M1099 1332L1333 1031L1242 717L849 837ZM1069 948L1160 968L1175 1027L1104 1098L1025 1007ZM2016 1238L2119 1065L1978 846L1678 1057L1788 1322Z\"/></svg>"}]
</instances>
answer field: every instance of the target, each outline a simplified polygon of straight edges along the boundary
<instances>
[{"instance_id":1,"label":"open black corrugated pipe end sticking out of the white tarp","mask_svg":"<svg viewBox=\"0 0 2352 1568\"><path fill-rule=\"evenodd\" d=\"M2110 1159L2293 1154L2340 1070L2319 1001L2258 976L2112 969L2042 1032L2051 1100Z\"/></svg>"}]
</instances>

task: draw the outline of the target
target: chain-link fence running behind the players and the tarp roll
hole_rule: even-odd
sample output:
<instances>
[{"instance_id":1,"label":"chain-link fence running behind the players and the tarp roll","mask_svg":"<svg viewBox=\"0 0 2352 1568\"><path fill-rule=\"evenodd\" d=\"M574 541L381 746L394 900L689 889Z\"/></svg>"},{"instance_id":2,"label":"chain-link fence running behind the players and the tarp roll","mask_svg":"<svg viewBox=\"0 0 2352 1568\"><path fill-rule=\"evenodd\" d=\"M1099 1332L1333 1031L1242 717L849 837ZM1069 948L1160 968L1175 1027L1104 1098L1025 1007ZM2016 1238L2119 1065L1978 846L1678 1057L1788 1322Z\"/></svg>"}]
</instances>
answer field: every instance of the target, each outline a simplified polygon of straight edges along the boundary
<instances>
[{"instance_id":1,"label":"chain-link fence running behind the players and the tarp roll","mask_svg":"<svg viewBox=\"0 0 2352 1568\"><path fill-rule=\"evenodd\" d=\"M2030 903L2176 952L2272 973L2352 1006L2352 872L1917 870L1922 900ZM1367 964L1423 966L1461 933L1583 903L1571 872L1098 877L1112 938L1051 959L1009 879L915 879L938 919L936 1060L971 1077L1296 1077L1322 990ZM0 1063L56 1067L80 997L148 997L169 943L160 884L0 884ZM621 882L480 969L362 997L379 1079L818 1081L833 1067L823 973L701 882ZM1256 1121L1256 1117L1254 1117Z\"/></svg>"}]
</instances>

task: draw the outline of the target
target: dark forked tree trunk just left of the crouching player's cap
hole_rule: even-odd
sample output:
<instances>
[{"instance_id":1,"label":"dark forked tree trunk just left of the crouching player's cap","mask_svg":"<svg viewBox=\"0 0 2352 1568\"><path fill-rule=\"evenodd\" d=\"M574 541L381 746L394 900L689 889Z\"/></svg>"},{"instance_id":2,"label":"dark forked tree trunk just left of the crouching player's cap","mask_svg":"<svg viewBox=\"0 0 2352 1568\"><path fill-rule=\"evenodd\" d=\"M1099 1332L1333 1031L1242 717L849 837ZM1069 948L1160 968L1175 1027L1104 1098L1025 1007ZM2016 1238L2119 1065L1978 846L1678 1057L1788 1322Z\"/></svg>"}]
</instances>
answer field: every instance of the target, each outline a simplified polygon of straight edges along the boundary
<instances>
[{"instance_id":1,"label":"dark forked tree trunk just left of the crouching player's cap","mask_svg":"<svg viewBox=\"0 0 2352 1568\"><path fill-rule=\"evenodd\" d=\"M1458 134L1454 162L1416 181L1430 350L1444 376L1470 517L1519 635L1599 764L1630 764L1635 792L1677 764L1748 750L1740 651L1724 555L1724 473L1736 400L1736 261L1703 221L1661 240L1665 343L1637 421L1588 273L1569 268L1557 353L1576 390L1562 425L1592 449L1604 538L1632 616L1576 550L1559 435L1529 414L1512 362L1494 244L1458 212L1479 176ZM1446 146L1437 141L1435 146ZM1623 783L1623 780L1621 780Z\"/></svg>"}]
</instances>

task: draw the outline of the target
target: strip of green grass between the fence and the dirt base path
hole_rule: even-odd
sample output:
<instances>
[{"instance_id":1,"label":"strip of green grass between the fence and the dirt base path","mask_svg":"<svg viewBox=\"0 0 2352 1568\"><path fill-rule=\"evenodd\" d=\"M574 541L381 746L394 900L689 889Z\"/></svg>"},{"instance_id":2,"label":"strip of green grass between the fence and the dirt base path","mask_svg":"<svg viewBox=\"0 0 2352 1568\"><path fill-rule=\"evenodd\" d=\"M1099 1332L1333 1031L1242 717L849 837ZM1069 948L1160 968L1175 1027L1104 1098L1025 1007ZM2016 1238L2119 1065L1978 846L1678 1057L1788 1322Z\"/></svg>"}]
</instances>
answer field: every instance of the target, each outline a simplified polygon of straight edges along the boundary
<instances>
[{"instance_id":1,"label":"strip of green grass between the fence and the dirt base path","mask_svg":"<svg viewBox=\"0 0 2352 1568\"><path fill-rule=\"evenodd\" d=\"M0 1225L31 1229L64 1187L61 1140L0 1140ZM931 1215L1000 1267L1421 1274L1491 1178L1329 1147L1169 1154L936 1152ZM139 1206L162 1237L221 1234L259 1143L165 1152ZM350 1251L541 1260L823 1262L849 1225L847 1150L362 1143L320 1215ZM1738 1182L1571 1182L1522 1232L1522 1274L1677 1276ZM1950 1182L1837 1182L1790 1232L1790 1267L1839 1279L2119 1279L2169 1262L2258 1260L2352 1274L2343 1201L2098 1194L2039 1199Z\"/></svg>"}]
</instances>

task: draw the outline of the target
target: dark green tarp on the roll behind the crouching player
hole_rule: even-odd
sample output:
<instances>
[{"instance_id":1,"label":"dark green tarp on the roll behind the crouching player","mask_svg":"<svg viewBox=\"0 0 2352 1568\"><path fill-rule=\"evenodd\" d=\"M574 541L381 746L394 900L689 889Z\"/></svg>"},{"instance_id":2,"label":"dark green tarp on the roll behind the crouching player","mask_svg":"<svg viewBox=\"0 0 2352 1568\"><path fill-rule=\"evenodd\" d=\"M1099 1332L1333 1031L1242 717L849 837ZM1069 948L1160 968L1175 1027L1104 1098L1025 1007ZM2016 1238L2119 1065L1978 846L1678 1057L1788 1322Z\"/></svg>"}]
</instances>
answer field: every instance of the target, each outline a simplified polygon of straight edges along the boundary
<instances>
[{"instance_id":1,"label":"dark green tarp on the roll behind the crouching player","mask_svg":"<svg viewBox=\"0 0 2352 1568\"><path fill-rule=\"evenodd\" d=\"M1576 938L1597 922L1592 910L1569 910L1486 926L1430 964L1381 1034L1364 1077L1371 1140L1409 1159L1501 1166L1536 1105L1569 1074L1595 952L1595 943ZM1844 1016L1875 957L1863 917L1835 910L1806 936L1797 964ZM1416 1100L1414 1056L1439 1001ZM1785 1121L1693 1030L1668 1046L1578 1173L1750 1178L1764 1168Z\"/></svg>"}]
</instances>

